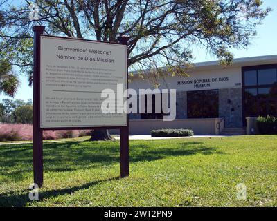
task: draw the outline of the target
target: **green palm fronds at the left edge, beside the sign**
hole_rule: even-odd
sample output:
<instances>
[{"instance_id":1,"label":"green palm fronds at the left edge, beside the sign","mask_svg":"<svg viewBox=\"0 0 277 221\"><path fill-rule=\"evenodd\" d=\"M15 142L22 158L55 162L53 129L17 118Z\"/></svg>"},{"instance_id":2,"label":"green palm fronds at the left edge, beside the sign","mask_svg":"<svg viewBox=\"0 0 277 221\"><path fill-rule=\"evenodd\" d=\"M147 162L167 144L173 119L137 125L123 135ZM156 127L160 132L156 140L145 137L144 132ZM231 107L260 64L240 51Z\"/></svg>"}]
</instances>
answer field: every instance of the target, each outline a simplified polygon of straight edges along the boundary
<instances>
[{"instance_id":1,"label":"green palm fronds at the left edge, beside the sign","mask_svg":"<svg viewBox=\"0 0 277 221\"><path fill-rule=\"evenodd\" d=\"M12 66L7 60L0 61L0 93L14 97L19 88L19 79L12 73Z\"/></svg>"}]
</instances>

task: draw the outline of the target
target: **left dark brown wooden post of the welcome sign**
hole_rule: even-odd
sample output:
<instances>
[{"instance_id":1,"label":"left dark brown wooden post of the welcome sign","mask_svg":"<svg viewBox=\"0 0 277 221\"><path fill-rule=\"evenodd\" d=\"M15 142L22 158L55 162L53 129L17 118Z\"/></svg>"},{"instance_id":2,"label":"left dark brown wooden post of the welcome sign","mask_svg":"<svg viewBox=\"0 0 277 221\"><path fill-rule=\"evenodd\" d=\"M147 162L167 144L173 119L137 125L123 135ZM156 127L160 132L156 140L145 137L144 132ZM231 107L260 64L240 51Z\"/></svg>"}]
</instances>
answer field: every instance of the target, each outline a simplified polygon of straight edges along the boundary
<instances>
[{"instance_id":1,"label":"left dark brown wooden post of the welcome sign","mask_svg":"<svg viewBox=\"0 0 277 221\"><path fill-rule=\"evenodd\" d=\"M40 36L44 26L34 26L34 71L33 71L33 170L34 183L43 184L42 128L40 128Z\"/></svg>"}]
</instances>

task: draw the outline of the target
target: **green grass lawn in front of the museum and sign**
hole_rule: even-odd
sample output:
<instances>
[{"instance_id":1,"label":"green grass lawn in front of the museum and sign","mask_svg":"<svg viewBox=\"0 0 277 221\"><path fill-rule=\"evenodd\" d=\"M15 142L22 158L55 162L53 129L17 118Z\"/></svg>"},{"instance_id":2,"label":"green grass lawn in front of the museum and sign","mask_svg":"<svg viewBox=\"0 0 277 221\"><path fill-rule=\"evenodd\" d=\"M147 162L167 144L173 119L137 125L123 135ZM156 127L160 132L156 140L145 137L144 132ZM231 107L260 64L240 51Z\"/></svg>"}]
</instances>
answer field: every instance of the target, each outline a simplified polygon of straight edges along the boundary
<instances>
[{"instance_id":1,"label":"green grass lawn in front of the museum and sign","mask_svg":"<svg viewBox=\"0 0 277 221\"><path fill-rule=\"evenodd\" d=\"M0 146L0 206L277 206L277 136L130 141L130 176L119 142L44 144L44 186L33 182L31 144ZM236 185L247 186L247 200Z\"/></svg>"}]
</instances>

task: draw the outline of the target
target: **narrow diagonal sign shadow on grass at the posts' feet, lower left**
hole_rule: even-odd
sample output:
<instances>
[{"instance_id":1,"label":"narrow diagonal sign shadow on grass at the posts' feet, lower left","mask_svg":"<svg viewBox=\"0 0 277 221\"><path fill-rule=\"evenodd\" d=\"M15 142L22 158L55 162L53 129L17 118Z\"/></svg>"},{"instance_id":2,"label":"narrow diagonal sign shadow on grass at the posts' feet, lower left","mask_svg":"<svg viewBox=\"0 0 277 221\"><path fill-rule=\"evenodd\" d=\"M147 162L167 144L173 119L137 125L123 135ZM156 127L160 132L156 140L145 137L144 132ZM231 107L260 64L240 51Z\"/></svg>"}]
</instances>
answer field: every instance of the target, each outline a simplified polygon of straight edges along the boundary
<instances>
[{"instance_id":1,"label":"narrow diagonal sign shadow on grass at the posts' feet, lower left","mask_svg":"<svg viewBox=\"0 0 277 221\"><path fill-rule=\"evenodd\" d=\"M58 195L66 195L66 194L71 194L74 193L75 191L79 191L82 189L88 189L91 186L95 186L96 184L99 184L100 182L109 182L111 180L118 180L120 177L114 177L114 178L109 178L105 180L96 180L94 182L89 182L87 184L83 184L81 186L73 186L70 188L66 189L57 189L53 191L44 191L44 192L39 192L39 201L42 201L46 198L51 198L55 197ZM29 197L29 190L25 189L24 191L21 192L9 192L9 193L4 193L0 194L0 207L12 207L12 206L17 206L17 207L23 207L26 206L28 203L32 203L33 200L30 200Z\"/></svg>"}]
</instances>

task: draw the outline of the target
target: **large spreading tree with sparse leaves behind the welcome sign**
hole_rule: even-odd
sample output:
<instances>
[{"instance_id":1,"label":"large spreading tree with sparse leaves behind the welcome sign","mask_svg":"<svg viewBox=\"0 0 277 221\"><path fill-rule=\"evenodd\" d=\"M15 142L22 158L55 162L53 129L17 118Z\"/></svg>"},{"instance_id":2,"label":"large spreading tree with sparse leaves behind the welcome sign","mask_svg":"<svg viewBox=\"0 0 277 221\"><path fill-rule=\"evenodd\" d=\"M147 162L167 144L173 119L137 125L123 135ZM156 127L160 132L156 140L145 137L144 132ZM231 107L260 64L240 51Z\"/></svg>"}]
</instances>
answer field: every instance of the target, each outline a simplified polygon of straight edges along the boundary
<instances>
[{"instance_id":1,"label":"large spreading tree with sparse leaves behind the welcome sign","mask_svg":"<svg viewBox=\"0 0 277 221\"><path fill-rule=\"evenodd\" d=\"M29 6L39 8L39 19L30 21ZM260 0L38 0L0 3L0 60L19 66L32 84L32 26L46 26L49 35L117 41L130 37L130 70L161 66L167 75L185 75L193 46L203 46L223 65L231 63L231 48L247 48L256 26L270 8ZM163 73L164 75L164 73ZM143 75L142 75L143 76ZM96 131L94 138L109 138Z\"/></svg>"}]
</instances>

